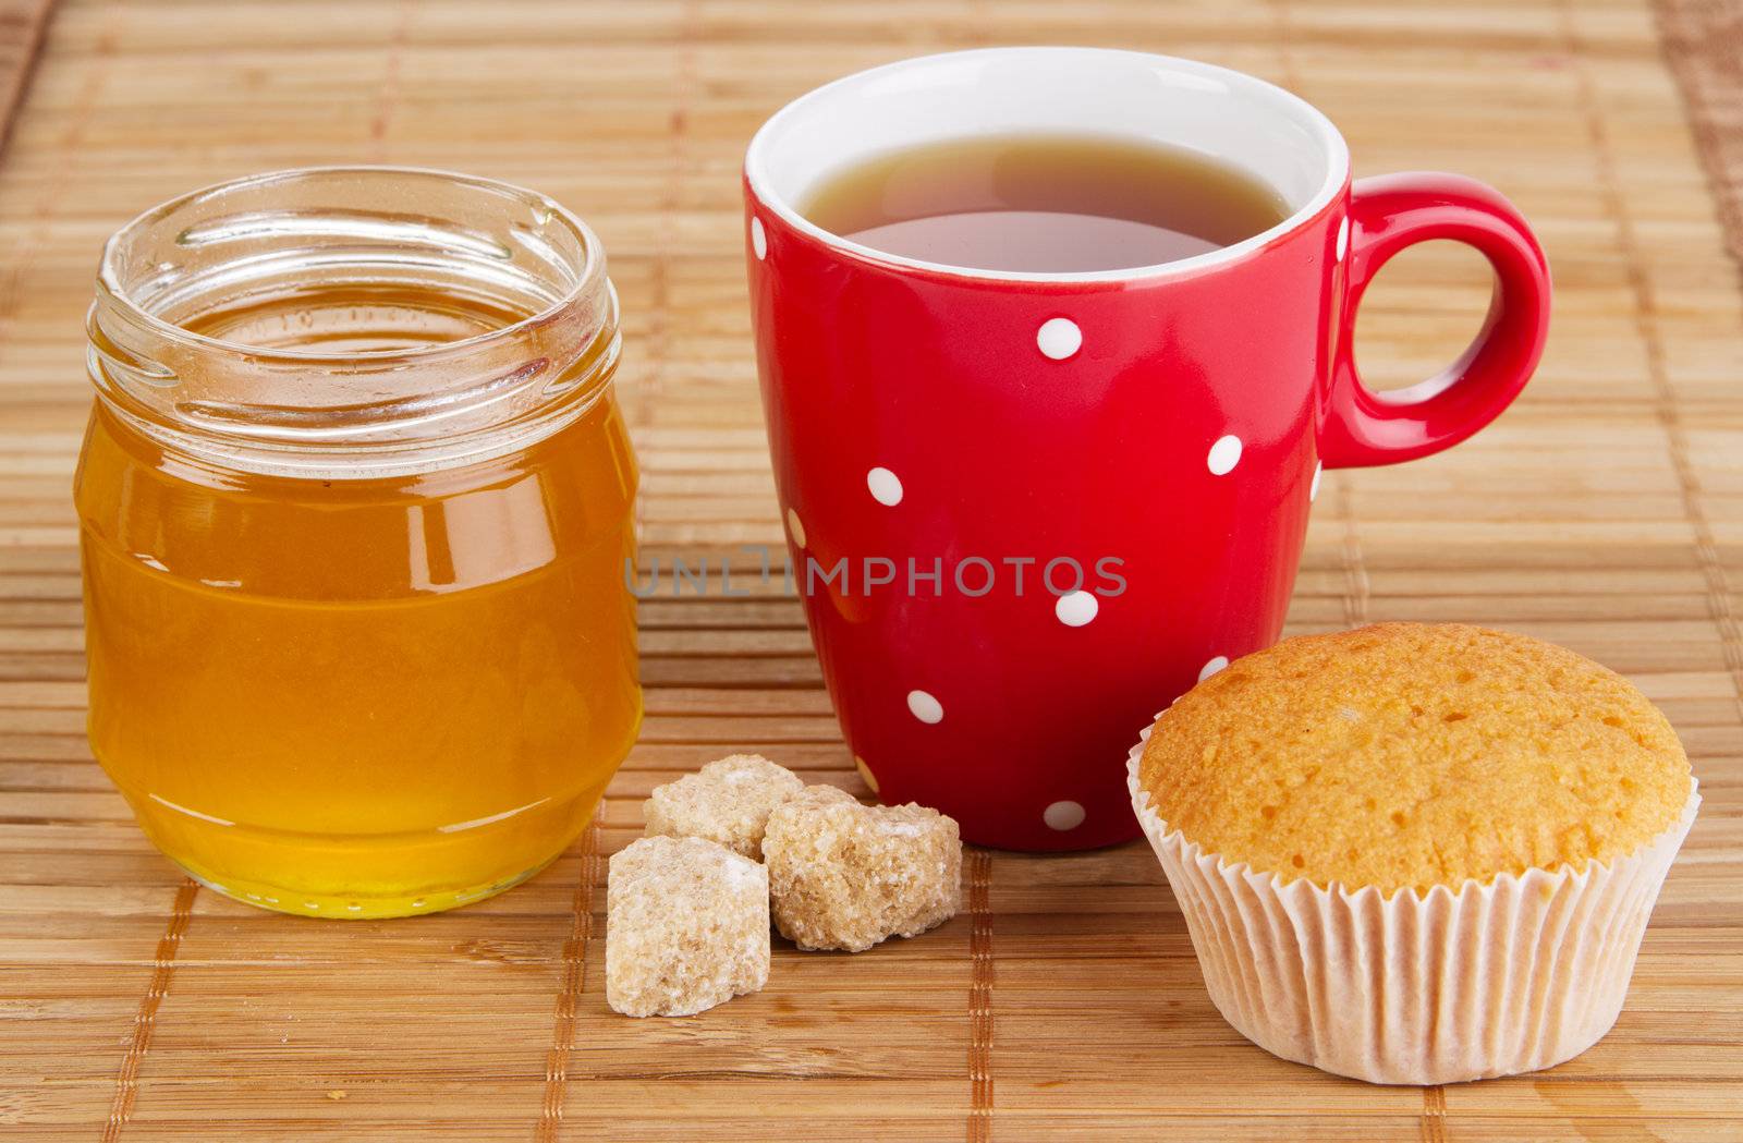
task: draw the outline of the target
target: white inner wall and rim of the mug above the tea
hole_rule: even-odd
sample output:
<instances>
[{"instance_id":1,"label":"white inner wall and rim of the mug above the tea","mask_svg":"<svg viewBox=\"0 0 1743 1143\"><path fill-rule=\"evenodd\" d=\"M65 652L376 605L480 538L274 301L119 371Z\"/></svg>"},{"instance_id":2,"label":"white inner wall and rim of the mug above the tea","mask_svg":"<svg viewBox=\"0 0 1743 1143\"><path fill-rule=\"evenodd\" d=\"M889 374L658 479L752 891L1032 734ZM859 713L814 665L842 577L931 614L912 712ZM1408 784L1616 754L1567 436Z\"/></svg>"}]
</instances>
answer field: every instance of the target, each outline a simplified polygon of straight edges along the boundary
<instances>
[{"instance_id":1,"label":"white inner wall and rim of the mug above the tea","mask_svg":"<svg viewBox=\"0 0 1743 1143\"><path fill-rule=\"evenodd\" d=\"M1084 134L1164 143L1276 190L1290 216L1222 249L1157 267L1072 274L974 270L899 258L798 213L824 178L915 145L999 134ZM1096 47L990 47L872 68L786 105L744 157L751 193L788 225L882 263L1021 281L1124 281L1238 260L1314 218L1349 176L1337 127L1304 99L1192 59Z\"/></svg>"}]
</instances>

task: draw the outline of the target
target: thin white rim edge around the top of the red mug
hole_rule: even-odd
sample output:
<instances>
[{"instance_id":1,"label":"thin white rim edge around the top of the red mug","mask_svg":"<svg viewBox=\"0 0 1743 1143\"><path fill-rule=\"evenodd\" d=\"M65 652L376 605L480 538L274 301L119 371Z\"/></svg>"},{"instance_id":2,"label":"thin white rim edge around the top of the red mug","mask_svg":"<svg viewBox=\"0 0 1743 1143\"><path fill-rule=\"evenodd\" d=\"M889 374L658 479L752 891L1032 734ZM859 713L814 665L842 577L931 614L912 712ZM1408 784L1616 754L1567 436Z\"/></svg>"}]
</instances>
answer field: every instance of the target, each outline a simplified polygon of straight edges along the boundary
<instances>
[{"instance_id":1,"label":"thin white rim edge around the top of the red mug","mask_svg":"<svg viewBox=\"0 0 1743 1143\"><path fill-rule=\"evenodd\" d=\"M1271 99L1281 108L1293 110L1302 120L1318 134L1319 145L1325 148L1326 155L1326 174L1312 195L1288 218L1281 220L1267 230L1234 242L1232 246L1224 246L1204 254L1194 254L1192 258L1178 258L1175 261L1161 261L1143 267L1124 267L1119 270L1075 270L1075 272L1028 272L1028 270L985 270L978 267L960 267L945 261L926 261L920 258L905 258L901 254L891 254L861 242L854 242L838 233L824 230L804 214L800 214L791 202L783 195L774 193L770 188L772 178L767 166L767 150L770 146L769 139L781 129L781 125L800 113L807 105L826 99L831 92L866 84L875 78L892 75L896 71L905 71L912 68L920 68L926 64L936 64L945 59L969 59L976 56L1100 56L1107 57L1124 57L1145 61L1150 64L1166 64L1168 70L1192 75L1199 78L1213 78L1227 84L1229 87L1245 89L1248 92L1257 92L1264 99ZM1203 63L1197 59L1185 59L1182 56L1163 56L1157 52L1135 52L1126 49L1112 47L1068 47L1068 45L1049 45L1049 47L978 47L960 52L934 52L929 56L913 56L908 59L898 59L894 63L880 64L877 68L866 68L863 71L854 71L831 80L821 87L814 87L805 94L791 99L774 115L770 115L756 134L751 136L749 146L744 152L744 181L749 186L751 195L756 202L776 214L783 223L797 230L798 233L823 244L828 249L851 254L856 260L882 265L901 272L922 272L933 274L946 279L957 281L995 281L995 282L1032 282L1039 286L1070 286L1070 284L1109 284L1109 282L1138 282L1138 281L1168 281L1194 277L1206 270L1220 270L1238 261L1245 261L1267 247L1278 244L1288 235L1295 233L1309 221L1318 218L1349 185L1349 145L1344 141L1342 132L1326 118L1325 112L1312 106L1300 96L1269 80L1262 80L1257 75L1248 75L1246 71L1236 71L1234 68L1224 68L1213 63Z\"/></svg>"}]
</instances>

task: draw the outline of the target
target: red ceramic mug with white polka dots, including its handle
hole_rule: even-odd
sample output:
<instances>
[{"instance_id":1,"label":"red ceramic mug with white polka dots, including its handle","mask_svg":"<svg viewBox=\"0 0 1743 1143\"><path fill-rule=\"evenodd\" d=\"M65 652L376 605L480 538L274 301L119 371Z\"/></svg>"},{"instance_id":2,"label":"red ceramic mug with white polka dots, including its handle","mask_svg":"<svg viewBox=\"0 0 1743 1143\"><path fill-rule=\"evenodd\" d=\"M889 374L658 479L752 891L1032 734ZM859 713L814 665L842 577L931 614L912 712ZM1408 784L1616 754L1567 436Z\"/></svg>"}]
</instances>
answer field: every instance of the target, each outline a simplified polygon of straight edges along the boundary
<instances>
[{"instance_id":1,"label":"red ceramic mug with white polka dots, including its handle","mask_svg":"<svg viewBox=\"0 0 1743 1143\"><path fill-rule=\"evenodd\" d=\"M1290 214L1164 265L1013 274L878 253L795 209L847 164L1016 132L1185 146ZM1278 638L1321 470L1462 441L1548 329L1548 267L1499 193L1351 185L1312 106L1163 56L990 49L847 77L756 132L744 199L776 490L842 732L885 801L981 845L1136 836L1128 749ZM1482 251L1494 303L1445 373L1379 394L1356 303L1428 239Z\"/></svg>"}]
</instances>

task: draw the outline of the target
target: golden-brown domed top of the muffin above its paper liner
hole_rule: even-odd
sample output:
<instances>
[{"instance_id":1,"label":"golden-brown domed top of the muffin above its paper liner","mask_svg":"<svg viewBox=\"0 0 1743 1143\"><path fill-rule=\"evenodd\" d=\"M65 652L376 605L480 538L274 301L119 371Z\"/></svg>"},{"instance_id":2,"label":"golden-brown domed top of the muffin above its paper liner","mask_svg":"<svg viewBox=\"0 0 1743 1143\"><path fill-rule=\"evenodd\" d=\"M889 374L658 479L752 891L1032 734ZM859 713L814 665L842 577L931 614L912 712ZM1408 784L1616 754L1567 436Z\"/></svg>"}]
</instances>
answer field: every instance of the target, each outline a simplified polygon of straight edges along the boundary
<instances>
[{"instance_id":1,"label":"golden-brown domed top of the muffin above its paper liner","mask_svg":"<svg viewBox=\"0 0 1743 1143\"><path fill-rule=\"evenodd\" d=\"M1628 680L1462 624L1239 659L1156 720L1138 779L1225 861L1386 894L1630 854L1691 789L1682 744Z\"/></svg>"}]
</instances>

